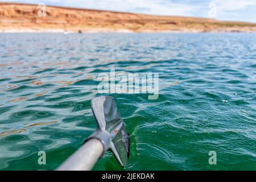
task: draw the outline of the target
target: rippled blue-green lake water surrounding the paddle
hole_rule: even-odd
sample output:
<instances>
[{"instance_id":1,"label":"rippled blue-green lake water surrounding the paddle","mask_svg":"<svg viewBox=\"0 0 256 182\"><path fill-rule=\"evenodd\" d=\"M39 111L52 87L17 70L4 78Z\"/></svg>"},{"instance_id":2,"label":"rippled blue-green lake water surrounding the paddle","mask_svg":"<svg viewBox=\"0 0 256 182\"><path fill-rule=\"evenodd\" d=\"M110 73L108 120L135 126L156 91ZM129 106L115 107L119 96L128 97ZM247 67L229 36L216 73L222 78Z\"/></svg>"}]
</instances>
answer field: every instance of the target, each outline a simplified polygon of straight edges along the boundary
<instances>
[{"instance_id":1,"label":"rippled blue-green lake water surrounding the paddle","mask_svg":"<svg viewBox=\"0 0 256 182\"><path fill-rule=\"evenodd\" d=\"M256 169L256 34L242 33L0 34L0 169L52 170L77 150L110 68L160 80L158 100L110 94L131 135L124 169ZM122 168L107 152L94 169Z\"/></svg>"}]
</instances>

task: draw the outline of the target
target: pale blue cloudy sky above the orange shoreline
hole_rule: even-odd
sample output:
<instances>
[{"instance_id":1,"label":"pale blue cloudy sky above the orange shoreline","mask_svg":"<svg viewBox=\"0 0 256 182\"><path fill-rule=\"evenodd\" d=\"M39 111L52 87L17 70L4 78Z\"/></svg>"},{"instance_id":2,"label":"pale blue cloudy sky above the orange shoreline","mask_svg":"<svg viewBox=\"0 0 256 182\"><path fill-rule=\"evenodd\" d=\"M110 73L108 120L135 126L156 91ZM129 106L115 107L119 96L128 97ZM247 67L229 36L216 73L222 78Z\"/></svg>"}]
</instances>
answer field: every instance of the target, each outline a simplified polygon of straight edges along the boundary
<instances>
[{"instance_id":1,"label":"pale blue cloudy sky above the orange shoreline","mask_svg":"<svg viewBox=\"0 0 256 182\"><path fill-rule=\"evenodd\" d=\"M45 3L85 9L256 22L256 0L5 0L3 2Z\"/></svg>"}]
</instances>

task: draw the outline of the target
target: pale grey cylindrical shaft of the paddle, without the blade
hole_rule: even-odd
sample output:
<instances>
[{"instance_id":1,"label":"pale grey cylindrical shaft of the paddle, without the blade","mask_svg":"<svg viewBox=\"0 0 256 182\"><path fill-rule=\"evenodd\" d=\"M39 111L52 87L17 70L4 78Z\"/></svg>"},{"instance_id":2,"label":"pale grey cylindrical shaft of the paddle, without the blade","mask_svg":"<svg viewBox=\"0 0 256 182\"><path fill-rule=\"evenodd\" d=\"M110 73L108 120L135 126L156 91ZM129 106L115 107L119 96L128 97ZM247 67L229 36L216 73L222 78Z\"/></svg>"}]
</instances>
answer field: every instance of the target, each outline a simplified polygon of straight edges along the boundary
<instances>
[{"instance_id":1,"label":"pale grey cylindrical shaft of the paddle, without the blade","mask_svg":"<svg viewBox=\"0 0 256 182\"><path fill-rule=\"evenodd\" d=\"M89 171L104 151L100 140L90 139L71 155L57 171Z\"/></svg>"}]
</instances>

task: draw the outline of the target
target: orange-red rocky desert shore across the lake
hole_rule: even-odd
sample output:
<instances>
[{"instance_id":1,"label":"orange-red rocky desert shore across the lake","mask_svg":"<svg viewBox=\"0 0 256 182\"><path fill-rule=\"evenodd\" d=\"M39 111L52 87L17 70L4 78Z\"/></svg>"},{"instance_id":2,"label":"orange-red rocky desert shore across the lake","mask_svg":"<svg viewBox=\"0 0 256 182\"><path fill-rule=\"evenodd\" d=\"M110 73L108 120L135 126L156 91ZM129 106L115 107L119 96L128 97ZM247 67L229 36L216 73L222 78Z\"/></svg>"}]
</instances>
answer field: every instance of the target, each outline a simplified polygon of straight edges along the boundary
<instances>
[{"instance_id":1,"label":"orange-red rocky desert shore across the lake","mask_svg":"<svg viewBox=\"0 0 256 182\"><path fill-rule=\"evenodd\" d=\"M256 23L0 3L0 32L256 32Z\"/></svg>"}]
</instances>

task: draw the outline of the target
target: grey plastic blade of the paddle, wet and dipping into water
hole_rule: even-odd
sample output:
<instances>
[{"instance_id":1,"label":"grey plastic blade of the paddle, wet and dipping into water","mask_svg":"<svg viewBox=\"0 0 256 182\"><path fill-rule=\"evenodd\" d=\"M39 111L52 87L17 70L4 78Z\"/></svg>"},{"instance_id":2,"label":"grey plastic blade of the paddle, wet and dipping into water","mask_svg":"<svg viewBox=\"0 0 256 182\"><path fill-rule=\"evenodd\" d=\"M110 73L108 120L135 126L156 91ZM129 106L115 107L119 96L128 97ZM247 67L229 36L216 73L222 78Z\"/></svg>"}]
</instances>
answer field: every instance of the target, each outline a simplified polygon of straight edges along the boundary
<instances>
[{"instance_id":1,"label":"grey plastic blade of the paddle, wet and dipping into water","mask_svg":"<svg viewBox=\"0 0 256 182\"><path fill-rule=\"evenodd\" d=\"M91 101L92 111L97 121L98 129L109 132L112 143L109 148L121 166L126 166L129 157L130 137L125 123L118 113L113 97L100 96Z\"/></svg>"}]
</instances>

